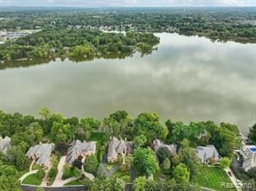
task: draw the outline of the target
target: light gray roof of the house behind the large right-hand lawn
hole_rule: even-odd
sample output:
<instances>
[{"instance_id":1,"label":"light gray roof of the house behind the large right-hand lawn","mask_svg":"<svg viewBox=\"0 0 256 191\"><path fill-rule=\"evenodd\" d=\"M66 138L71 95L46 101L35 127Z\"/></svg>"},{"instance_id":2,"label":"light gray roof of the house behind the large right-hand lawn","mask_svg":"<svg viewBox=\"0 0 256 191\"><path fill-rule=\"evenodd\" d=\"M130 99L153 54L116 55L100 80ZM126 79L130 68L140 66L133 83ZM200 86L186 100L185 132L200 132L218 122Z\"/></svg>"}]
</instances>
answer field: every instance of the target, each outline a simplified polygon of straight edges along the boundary
<instances>
[{"instance_id":1,"label":"light gray roof of the house behind the large right-hand lawn","mask_svg":"<svg viewBox=\"0 0 256 191\"><path fill-rule=\"evenodd\" d=\"M211 157L214 157L216 160L220 159L218 150L216 150L214 145L198 146L195 149L195 153L202 160L202 162L206 162L208 158Z\"/></svg>"}]
</instances>

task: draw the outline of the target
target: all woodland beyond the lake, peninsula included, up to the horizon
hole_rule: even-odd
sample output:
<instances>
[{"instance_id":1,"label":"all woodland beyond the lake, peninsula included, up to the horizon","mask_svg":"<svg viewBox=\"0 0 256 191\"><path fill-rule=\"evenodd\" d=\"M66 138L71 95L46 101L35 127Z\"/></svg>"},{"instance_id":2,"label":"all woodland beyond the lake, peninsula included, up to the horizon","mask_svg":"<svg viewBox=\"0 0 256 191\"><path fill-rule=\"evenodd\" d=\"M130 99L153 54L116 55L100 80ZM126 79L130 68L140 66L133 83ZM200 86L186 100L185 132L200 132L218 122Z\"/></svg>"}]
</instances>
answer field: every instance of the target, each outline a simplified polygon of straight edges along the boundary
<instances>
[{"instance_id":1,"label":"all woodland beyond the lake, peninsula included, up to the horizon","mask_svg":"<svg viewBox=\"0 0 256 191\"><path fill-rule=\"evenodd\" d=\"M55 57L80 61L99 57L125 58L136 51L150 54L159 43L151 34L153 32L255 43L255 21L255 8L7 8L0 10L0 31L36 29L36 32L0 45L0 61L51 60Z\"/></svg>"}]
</instances>

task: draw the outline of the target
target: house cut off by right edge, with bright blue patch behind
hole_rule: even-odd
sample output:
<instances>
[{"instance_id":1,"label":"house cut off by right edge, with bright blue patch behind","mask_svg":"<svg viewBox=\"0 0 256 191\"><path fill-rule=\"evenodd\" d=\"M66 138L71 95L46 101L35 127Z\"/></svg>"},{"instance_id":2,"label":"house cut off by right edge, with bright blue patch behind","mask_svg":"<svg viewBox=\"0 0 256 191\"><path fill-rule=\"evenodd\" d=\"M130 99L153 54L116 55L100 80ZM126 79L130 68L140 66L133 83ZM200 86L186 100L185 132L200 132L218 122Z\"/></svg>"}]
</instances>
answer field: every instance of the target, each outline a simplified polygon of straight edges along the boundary
<instances>
[{"instance_id":1,"label":"house cut off by right edge, with bright blue patch behind","mask_svg":"<svg viewBox=\"0 0 256 191\"><path fill-rule=\"evenodd\" d=\"M256 167L256 146L245 145L240 150L240 155L243 156L242 168L245 171Z\"/></svg>"}]
</instances>

